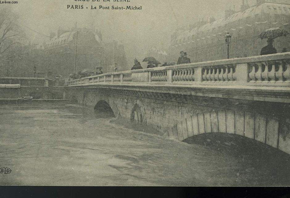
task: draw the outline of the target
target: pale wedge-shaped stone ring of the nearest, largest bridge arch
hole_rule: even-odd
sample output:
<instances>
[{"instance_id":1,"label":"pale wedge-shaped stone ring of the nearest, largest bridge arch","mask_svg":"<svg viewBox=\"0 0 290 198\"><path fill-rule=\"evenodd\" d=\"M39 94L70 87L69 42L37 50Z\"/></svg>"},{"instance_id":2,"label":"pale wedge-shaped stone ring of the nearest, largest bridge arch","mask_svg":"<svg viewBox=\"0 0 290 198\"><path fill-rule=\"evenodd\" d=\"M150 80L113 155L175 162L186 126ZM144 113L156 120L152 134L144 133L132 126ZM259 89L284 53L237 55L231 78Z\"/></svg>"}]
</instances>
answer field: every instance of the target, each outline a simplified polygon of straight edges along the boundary
<instances>
[{"instance_id":1,"label":"pale wedge-shaped stone ring of the nearest, largest bridge arch","mask_svg":"<svg viewBox=\"0 0 290 198\"><path fill-rule=\"evenodd\" d=\"M168 136L183 141L204 133L229 133L244 136L290 153L290 122L271 115L242 110L218 110L188 115L176 121Z\"/></svg>"}]
</instances>

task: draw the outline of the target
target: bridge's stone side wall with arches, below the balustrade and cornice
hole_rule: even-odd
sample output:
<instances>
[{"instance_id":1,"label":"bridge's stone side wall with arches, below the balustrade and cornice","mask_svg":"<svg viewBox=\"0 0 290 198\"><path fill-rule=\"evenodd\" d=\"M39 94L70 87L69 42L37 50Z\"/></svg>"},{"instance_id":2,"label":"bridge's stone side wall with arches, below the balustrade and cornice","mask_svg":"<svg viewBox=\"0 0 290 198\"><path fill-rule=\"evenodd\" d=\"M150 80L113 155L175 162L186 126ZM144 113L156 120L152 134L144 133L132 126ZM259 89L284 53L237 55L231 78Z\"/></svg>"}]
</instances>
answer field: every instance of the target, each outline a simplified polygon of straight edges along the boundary
<instances>
[{"instance_id":1,"label":"bridge's stone side wall with arches, below the balustrade and cornice","mask_svg":"<svg viewBox=\"0 0 290 198\"><path fill-rule=\"evenodd\" d=\"M180 141L202 133L231 133L290 154L289 111L282 103L107 88L69 88L66 96L89 108L106 101L116 118L153 126Z\"/></svg>"}]
</instances>

